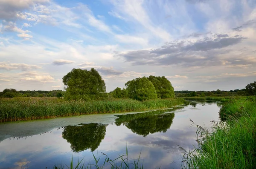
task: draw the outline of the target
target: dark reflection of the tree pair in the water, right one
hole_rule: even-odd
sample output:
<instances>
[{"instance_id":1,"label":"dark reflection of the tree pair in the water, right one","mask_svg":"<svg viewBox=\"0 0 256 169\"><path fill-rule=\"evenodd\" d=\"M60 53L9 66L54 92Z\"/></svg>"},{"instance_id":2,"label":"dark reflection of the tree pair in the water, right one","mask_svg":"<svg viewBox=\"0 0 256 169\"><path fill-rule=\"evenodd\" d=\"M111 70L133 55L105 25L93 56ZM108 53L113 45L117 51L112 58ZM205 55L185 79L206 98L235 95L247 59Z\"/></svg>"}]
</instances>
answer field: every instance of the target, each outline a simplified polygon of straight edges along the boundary
<instances>
[{"instance_id":1,"label":"dark reflection of the tree pair in the water, right one","mask_svg":"<svg viewBox=\"0 0 256 169\"><path fill-rule=\"evenodd\" d=\"M117 126L123 124L128 129L131 129L132 132L146 137L150 133L166 132L167 129L171 127L175 114L164 112L166 112L166 110L156 110L129 115L116 115L118 118L116 119L115 124Z\"/></svg>"}]
</instances>

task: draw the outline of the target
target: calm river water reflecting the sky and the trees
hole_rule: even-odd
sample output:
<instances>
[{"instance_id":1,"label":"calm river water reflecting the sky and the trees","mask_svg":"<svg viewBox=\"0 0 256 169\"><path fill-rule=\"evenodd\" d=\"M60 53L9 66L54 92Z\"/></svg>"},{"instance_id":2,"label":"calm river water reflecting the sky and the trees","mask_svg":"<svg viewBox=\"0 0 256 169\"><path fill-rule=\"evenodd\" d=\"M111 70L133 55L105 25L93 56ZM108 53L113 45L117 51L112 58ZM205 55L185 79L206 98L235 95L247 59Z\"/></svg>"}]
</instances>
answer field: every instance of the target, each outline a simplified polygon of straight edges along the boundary
<instances>
[{"instance_id":1,"label":"calm river water reflecting the sky and the trees","mask_svg":"<svg viewBox=\"0 0 256 169\"><path fill-rule=\"evenodd\" d=\"M0 123L0 169L52 169L84 158L140 155L146 169L176 169L182 154L196 145L196 124L210 128L218 120L219 103L190 102L190 105L146 113L83 115L50 120ZM102 161L100 161L102 162ZM106 167L108 168L108 167Z\"/></svg>"}]
</instances>

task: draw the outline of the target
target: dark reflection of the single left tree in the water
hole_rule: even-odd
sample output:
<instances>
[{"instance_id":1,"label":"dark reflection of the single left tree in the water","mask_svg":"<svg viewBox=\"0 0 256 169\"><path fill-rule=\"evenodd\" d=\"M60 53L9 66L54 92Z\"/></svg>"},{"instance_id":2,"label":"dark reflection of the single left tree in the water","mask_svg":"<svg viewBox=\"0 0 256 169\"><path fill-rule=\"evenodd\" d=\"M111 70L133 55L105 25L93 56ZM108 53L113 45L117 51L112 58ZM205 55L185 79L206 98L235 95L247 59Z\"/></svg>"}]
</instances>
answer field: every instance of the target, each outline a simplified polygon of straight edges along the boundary
<instances>
[{"instance_id":1,"label":"dark reflection of the single left tree in the water","mask_svg":"<svg viewBox=\"0 0 256 169\"><path fill-rule=\"evenodd\" d=\"M96 150L106 134L106 124L89 123L63 127L62 137L71 144L73 152Z\"/></svg>"}]
</instances>

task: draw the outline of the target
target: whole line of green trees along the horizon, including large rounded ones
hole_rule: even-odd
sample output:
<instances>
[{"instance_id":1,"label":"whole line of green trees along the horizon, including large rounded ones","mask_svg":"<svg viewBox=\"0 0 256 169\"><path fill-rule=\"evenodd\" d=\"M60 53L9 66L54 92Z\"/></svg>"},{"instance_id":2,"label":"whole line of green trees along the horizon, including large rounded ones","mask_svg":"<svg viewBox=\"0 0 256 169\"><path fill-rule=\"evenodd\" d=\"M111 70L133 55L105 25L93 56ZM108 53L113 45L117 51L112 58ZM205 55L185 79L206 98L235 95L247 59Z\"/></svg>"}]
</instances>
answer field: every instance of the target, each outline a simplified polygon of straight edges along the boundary
<instances>
[{"instance_id":1,"label":"whole line of green trees along the horizon, including large rounded ones","mask_svg":"<svg viewBox=\"0 0 256 169\"><path fill-rule=\"evenodd\" d=\"M230 91L174 91L172 83L162 76L138 77L125 83L125 88L117 87L106 92L105 81L96 69L72 69L62 78L64 89L53 91L16 91L4 89L0 97L64 97L67 100L104 100L107 98L131 98L149 100L156 98L206 97L206 96L251 96L256 95L256 81L245 89Z\"/></svg>"}]
</instances>

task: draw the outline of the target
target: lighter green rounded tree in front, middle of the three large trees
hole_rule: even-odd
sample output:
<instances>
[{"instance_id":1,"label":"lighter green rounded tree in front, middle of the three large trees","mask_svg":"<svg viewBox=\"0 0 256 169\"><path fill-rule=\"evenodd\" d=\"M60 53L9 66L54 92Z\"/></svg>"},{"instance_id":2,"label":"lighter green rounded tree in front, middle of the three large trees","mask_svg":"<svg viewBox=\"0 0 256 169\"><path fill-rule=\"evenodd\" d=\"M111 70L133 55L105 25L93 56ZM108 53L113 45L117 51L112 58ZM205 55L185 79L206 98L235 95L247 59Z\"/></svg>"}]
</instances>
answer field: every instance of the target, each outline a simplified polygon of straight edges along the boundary
<instances>
[{"instance_id":1,"label":"lighter green rounded tree in front, middle of the three large trees","mask_svg":"<svg viewBox=\"0 0 256 169\"><path fill-rule=\"evenodd\" d=\"M156 99L157 92L147 77L139 77L125 83L128 96L136 100Z\"/></svg>"}]
</instances>

